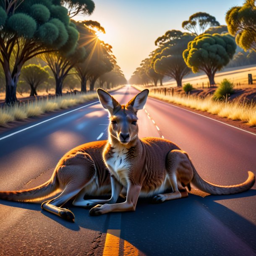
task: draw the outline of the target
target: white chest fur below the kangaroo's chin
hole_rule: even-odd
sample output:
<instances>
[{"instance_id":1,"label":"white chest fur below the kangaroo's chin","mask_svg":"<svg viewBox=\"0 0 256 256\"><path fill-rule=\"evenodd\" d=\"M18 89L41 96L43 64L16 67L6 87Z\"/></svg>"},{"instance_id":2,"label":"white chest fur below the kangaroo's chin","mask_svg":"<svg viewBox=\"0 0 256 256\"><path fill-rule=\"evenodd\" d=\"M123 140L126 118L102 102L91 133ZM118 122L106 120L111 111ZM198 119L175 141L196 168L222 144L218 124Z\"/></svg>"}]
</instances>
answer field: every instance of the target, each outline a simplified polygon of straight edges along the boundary
<instances>
[{"instance_id":1,"label":"white chest fur below the kangaroo's chin","mask_svg":"<svg viewBox=\"0 0 256 256\"><path fill-rule=\"evenodd\" d=\"M128 184L128 173L131 167L127 160L127 152L128 149L124 146L115 147L112 149L111 157L106 161L110 172L125 187Z\"/></svg>"}]
</instances>

